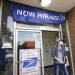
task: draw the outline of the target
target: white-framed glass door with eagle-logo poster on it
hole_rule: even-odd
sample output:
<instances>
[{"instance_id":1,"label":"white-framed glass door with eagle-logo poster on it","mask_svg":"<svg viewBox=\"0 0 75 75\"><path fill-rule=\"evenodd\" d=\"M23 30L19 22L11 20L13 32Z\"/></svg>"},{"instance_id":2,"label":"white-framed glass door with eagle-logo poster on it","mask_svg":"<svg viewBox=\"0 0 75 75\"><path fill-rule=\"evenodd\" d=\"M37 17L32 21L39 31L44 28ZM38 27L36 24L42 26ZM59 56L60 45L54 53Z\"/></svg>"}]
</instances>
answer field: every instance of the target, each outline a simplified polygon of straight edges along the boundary
<instances>
[{"instance_id":1,"label":"white-framed glass door with eagle-logo poster on it","mask_svg":"<svg viewBox=\"0 0 75 75\"><path fill-rule=\"evenodd\" d=\"M16 29L17 75L43 75L41 31Z\"/></svg>"}]
</instances>

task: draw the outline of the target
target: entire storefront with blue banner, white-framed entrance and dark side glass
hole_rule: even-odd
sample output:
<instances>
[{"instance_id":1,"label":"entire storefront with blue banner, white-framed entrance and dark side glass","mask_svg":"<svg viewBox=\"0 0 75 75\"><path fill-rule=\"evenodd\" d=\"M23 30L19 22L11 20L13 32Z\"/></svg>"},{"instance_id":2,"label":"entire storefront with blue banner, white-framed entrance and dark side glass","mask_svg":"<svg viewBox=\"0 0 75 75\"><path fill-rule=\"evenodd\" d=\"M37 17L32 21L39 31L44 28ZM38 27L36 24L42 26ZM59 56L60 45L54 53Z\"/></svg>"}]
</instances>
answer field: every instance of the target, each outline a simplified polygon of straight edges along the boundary
<instances>
[{"instance_id":1,"label":"entire storefront with blue banner, white-framed entrance and dark side glass","mask_svg":"<svg viewBox=\"0 0 75 75\"><path fill-rule=\"evenodd\" d=\"M4 54L5 63L3 70L1 68L0 75L31 75L35 73L53 75L50 51L56 43L57 33L60 37L63 36L63 40L69 48L67 51L70 60L69 68L71 68L69 72L72 74L71 43L64 13L43 10L18 2L8 2L8 0L2 1L2 8L1 48L5 48L6 54ZM59 26L62 26L62 29ZM3 56L1 59L3 60Z\"/></svg>"}]
</instances>

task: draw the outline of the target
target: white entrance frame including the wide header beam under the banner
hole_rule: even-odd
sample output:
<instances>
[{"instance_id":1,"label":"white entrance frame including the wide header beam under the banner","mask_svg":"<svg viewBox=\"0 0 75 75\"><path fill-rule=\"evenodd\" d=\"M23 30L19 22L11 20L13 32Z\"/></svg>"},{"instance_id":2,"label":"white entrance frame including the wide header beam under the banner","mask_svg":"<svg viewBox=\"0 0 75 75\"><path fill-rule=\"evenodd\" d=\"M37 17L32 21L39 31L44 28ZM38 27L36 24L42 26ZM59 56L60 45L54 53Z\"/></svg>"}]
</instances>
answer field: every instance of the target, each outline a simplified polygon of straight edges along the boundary
<instances>
[{"instance_id":1,"label":"white entrance frame including the wide header beam under the banner","mask_svg":"<svg viewBox=\"0 0 75 75\"><path fill-rule=\"evenodd\" d=\"M25 25L26 26L26 25ZM27 25L28 26L28 25ZM32 25L30 25L32 26ZM18 23L14 22L14 41L13 41L13 75L17 75L18 73L18 68L17 68L17 32L19 31L34 31L34 32L40 32L40 36L41 36L41 58L42 58L42 75L44 75L44 64L43 64L43 44L42 44L42 30L45 31L57 31L59 34L59 37L61 37L61 28L59 26L59 28L50 28L46 26L40 26L40 28L37 28L37 26L35 28L29 28L29 27L18 27Z\"/></svg>"}]
</instances>

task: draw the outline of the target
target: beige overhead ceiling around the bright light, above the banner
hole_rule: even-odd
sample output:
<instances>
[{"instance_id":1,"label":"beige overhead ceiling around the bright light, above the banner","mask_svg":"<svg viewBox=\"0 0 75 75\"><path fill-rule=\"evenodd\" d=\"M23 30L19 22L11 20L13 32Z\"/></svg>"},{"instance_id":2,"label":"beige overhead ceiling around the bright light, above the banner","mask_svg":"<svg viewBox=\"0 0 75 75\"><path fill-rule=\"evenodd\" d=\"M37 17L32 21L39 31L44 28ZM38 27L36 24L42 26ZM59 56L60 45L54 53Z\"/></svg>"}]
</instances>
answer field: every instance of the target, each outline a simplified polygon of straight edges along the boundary
<instances>
[{"instance_id":1,"label":"beige overhead ceiling around the bright light, above the banner","mask_svg":"<svg viewBox=\"0 0 75 75\"><path fill-rule=\"evenodd\" d=\"M48 7L42 7L40 0L10 0L10 1L57 12L67 12L75 6L75 0L52 0L52 3Z\"/></svg>"}]
</instances>

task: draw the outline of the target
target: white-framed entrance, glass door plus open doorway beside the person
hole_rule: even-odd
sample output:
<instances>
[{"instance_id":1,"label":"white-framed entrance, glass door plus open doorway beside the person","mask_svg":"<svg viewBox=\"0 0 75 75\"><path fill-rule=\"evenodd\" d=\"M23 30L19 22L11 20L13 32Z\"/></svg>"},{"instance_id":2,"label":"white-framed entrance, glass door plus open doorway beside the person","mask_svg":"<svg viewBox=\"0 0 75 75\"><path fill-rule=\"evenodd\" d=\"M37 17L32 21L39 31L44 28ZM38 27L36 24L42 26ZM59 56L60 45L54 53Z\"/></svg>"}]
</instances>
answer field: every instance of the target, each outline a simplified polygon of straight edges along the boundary
<instances>
[{"instance_id":1,"label":"white-framed entrance, glass door plus open doorway beside the person","mask_svg":"<svg viewBox=\"0 0 75 75\"><path fill-rule=\"evenodd\" d=\"M15 27L13 75L54 74L51 49L59 32L59 29L49 31L37 27Z\"/></svg>"}]
</instances>

